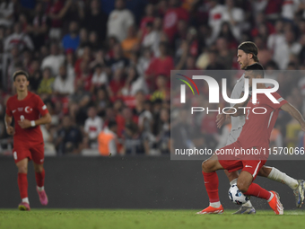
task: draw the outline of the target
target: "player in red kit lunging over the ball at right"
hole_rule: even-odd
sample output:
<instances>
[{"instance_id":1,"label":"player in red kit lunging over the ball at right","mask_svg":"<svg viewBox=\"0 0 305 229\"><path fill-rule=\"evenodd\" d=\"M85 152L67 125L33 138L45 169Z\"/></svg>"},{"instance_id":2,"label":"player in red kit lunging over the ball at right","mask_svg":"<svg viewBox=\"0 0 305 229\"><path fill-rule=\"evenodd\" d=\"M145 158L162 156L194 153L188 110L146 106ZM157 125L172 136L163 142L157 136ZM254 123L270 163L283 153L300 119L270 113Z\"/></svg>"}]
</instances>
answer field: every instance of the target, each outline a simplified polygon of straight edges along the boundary
<instances>
[{"instance_id":1,"label":"player in red kit lunging over the ball at right","mask_svg":"<svg viewBox=\"0 0 305 229\"><path fill-rule=\"evenodd\" d=\"M254 64L248 66L245 72L245 78L249 80L249 87L252 87L253 78L263 78L264 68L260 64ZM266 89L265 84L257 84L257 89ZM301 124L301 129L305 131L305 120L301 116L299 110L296 110L290 103L285 101L277 92L271 93L275 100L279 103L273 103L266 96L266 94L258 93L257 102L252 103L250 97L244 104L248 107L246 110L246 123L241 130L240 137L236 142L231 145L226 145L222 149L222 152L226 150L234 151L236 149L257 149L261 150L261 154L252 154L250 156L238 156L232 158L231 155L225 154L213 154L211 158L206 160L202 164L203 174L205 178L205 189L210 199L210 206L204 210L198 212L198 214L211 214L222 213L223 207L217 206L220 203L218 196L218 176L215 171L228 170L228 172L234 172L241 169L240 176L237 181L237 186L240 191L248 196L255 196L257 198L265 198L268 201L269 206L274 210L276 215L283 215L283 206L280 202L279 195L274 191L267 191L263 189L253 181L257 177L257 172L266 163L269 139L272 129L274 128L275 121L277 119L279 110L289 112L294 119L297 119ZM248 102L248 103L247 103ZM256 107L263 107L266 110L265 114L255 114L252 110ZM262 109L260 109L262 110ZM240 109L233 116L243 114L244 110ZM260 112L261 111L257 111ZM264 154L264 149L266 154ZM218 152L218 153L219 153ZM211 205L212 204L212 205Z\"/></svg>"}]
</instances>

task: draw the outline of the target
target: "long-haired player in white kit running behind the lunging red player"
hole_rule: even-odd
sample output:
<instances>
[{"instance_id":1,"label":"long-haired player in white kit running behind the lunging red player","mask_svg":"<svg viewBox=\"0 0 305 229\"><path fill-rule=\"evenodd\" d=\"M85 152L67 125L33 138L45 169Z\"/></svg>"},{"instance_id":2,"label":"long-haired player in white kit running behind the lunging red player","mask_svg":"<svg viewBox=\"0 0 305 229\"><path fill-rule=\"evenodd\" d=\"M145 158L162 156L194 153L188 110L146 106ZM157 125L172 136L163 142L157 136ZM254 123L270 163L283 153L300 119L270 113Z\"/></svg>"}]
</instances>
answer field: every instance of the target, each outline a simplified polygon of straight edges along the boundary
<instances>
[{"instance_id":1,"label":"long-haired player in white kit running behind the lunging red player","mask_svg":"<svg viewBox=\"0 0 305 229\"><path fill-rule=\"evenodd\" d=\"M257 58L258 48L255 43L251 41L246 41L240 44L238 48L238 62L240 63L240 68L245 69L247 66L253 65L258 63ZM244 85L245 85L245 78L244 75L240 77L237 84L235 84L233 91L231 92L231 99L239 99L243 96L244 92ZM233 107L235 104L231 104ZM217 127L221 128L223 122L225 121L226 117L224 114L217 116ZM231 132L227 139L226 145L231 145L232 143L236 142L237 138L240 137L240 132L245 124L245 116L239 117L231 117ZM230 184L236 184L237 179L239 177L239 172L228 172L224 171L230 181ZM303 200L304 200L304 186L305 183L303 180L295 180L292 177L286 175L284 172L279 171L274 167L263 166L258 174L258 176L266 177L273 181L278 181L281 183L286 184L293 190L295 200L296 200L296 207L301 207ZM251 202L248 201L246 204L243 204L240 209L233 213L233 214L255 214L256 210L252 206Z\"/></svg>"}]
</instances>

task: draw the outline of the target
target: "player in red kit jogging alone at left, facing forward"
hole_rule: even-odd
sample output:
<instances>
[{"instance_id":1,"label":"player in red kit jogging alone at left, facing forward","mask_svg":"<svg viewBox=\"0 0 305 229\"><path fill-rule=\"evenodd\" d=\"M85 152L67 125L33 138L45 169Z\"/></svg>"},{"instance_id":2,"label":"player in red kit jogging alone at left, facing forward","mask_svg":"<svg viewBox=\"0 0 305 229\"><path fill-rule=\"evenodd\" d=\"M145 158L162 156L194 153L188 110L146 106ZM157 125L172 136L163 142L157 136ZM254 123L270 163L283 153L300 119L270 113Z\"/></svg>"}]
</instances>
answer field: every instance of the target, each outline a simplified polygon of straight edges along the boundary
<instances>
[{"instance_id":1,"label":"player in red kit jogging alone at left, facing forward","mask_svg":"<svg viewBox=\"0 0 305 229\"><path fill-rule=\"evenodd\" d=\"M13 74L13 85L17 94L6 103L5 126L9 135L13 135L13 159L18 168L18 186L22 203L20 210L30 210L28 198L28 162L33 160L37 191L41 205L48 204L44 189L45 170L44 142L39 125L51 122L47 106L38 95L28 92L29 75L24 71ZM11 126L14 119L14 128Z\"/></svg>"}]
</instances>

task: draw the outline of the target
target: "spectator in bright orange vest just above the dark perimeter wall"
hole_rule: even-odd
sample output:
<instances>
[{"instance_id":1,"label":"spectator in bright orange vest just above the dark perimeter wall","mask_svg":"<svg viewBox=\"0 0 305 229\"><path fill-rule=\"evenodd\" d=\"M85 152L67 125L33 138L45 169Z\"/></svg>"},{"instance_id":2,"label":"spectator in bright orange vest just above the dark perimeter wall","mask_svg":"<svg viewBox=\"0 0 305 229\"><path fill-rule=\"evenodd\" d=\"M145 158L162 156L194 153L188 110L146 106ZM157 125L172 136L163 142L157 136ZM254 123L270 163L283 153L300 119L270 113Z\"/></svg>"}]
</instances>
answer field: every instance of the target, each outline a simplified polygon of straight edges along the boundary
<instances>
[{"instance_id":1,"label":"spectator in bright orange vest just above the dark perimeter wall","mask_svg":"<svg viewBox=\"0 0 305 229\"><path fill-rule=\"evenodd\" d=\"M98 137L99 152L102 156L118 154L117 122L109 121L108 127L100 131Z\"/></svg>"}]
</instances>

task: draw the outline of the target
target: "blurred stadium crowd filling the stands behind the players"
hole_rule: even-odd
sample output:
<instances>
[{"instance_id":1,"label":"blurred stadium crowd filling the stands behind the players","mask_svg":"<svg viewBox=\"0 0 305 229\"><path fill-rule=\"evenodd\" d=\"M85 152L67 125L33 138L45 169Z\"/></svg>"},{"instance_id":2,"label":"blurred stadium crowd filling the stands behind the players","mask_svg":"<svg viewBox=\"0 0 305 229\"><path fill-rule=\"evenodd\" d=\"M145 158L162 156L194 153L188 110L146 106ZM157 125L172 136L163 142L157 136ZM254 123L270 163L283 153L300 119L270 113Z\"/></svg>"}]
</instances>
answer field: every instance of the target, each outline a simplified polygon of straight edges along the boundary
<instances>
[{"instance_id":1,"label":"blurred stadium crowd filling the stands behind the players","mask_svg":"<svg viewBox=\"0 0 305 229\"><path fill-rule=\"evenodd\" d=\"M240 69L245 40L266 69L305 70L305 1L1 0L0 151L12 75L23 69L53 118L41 127L47 153L170 154L170 70ZM305 112L305 80L281 80L283 97ZM223 142L230 125L214 120L199 119L196 145ZM286 114L272 137L303 145Z\"/></svg>"}]
</instances>

